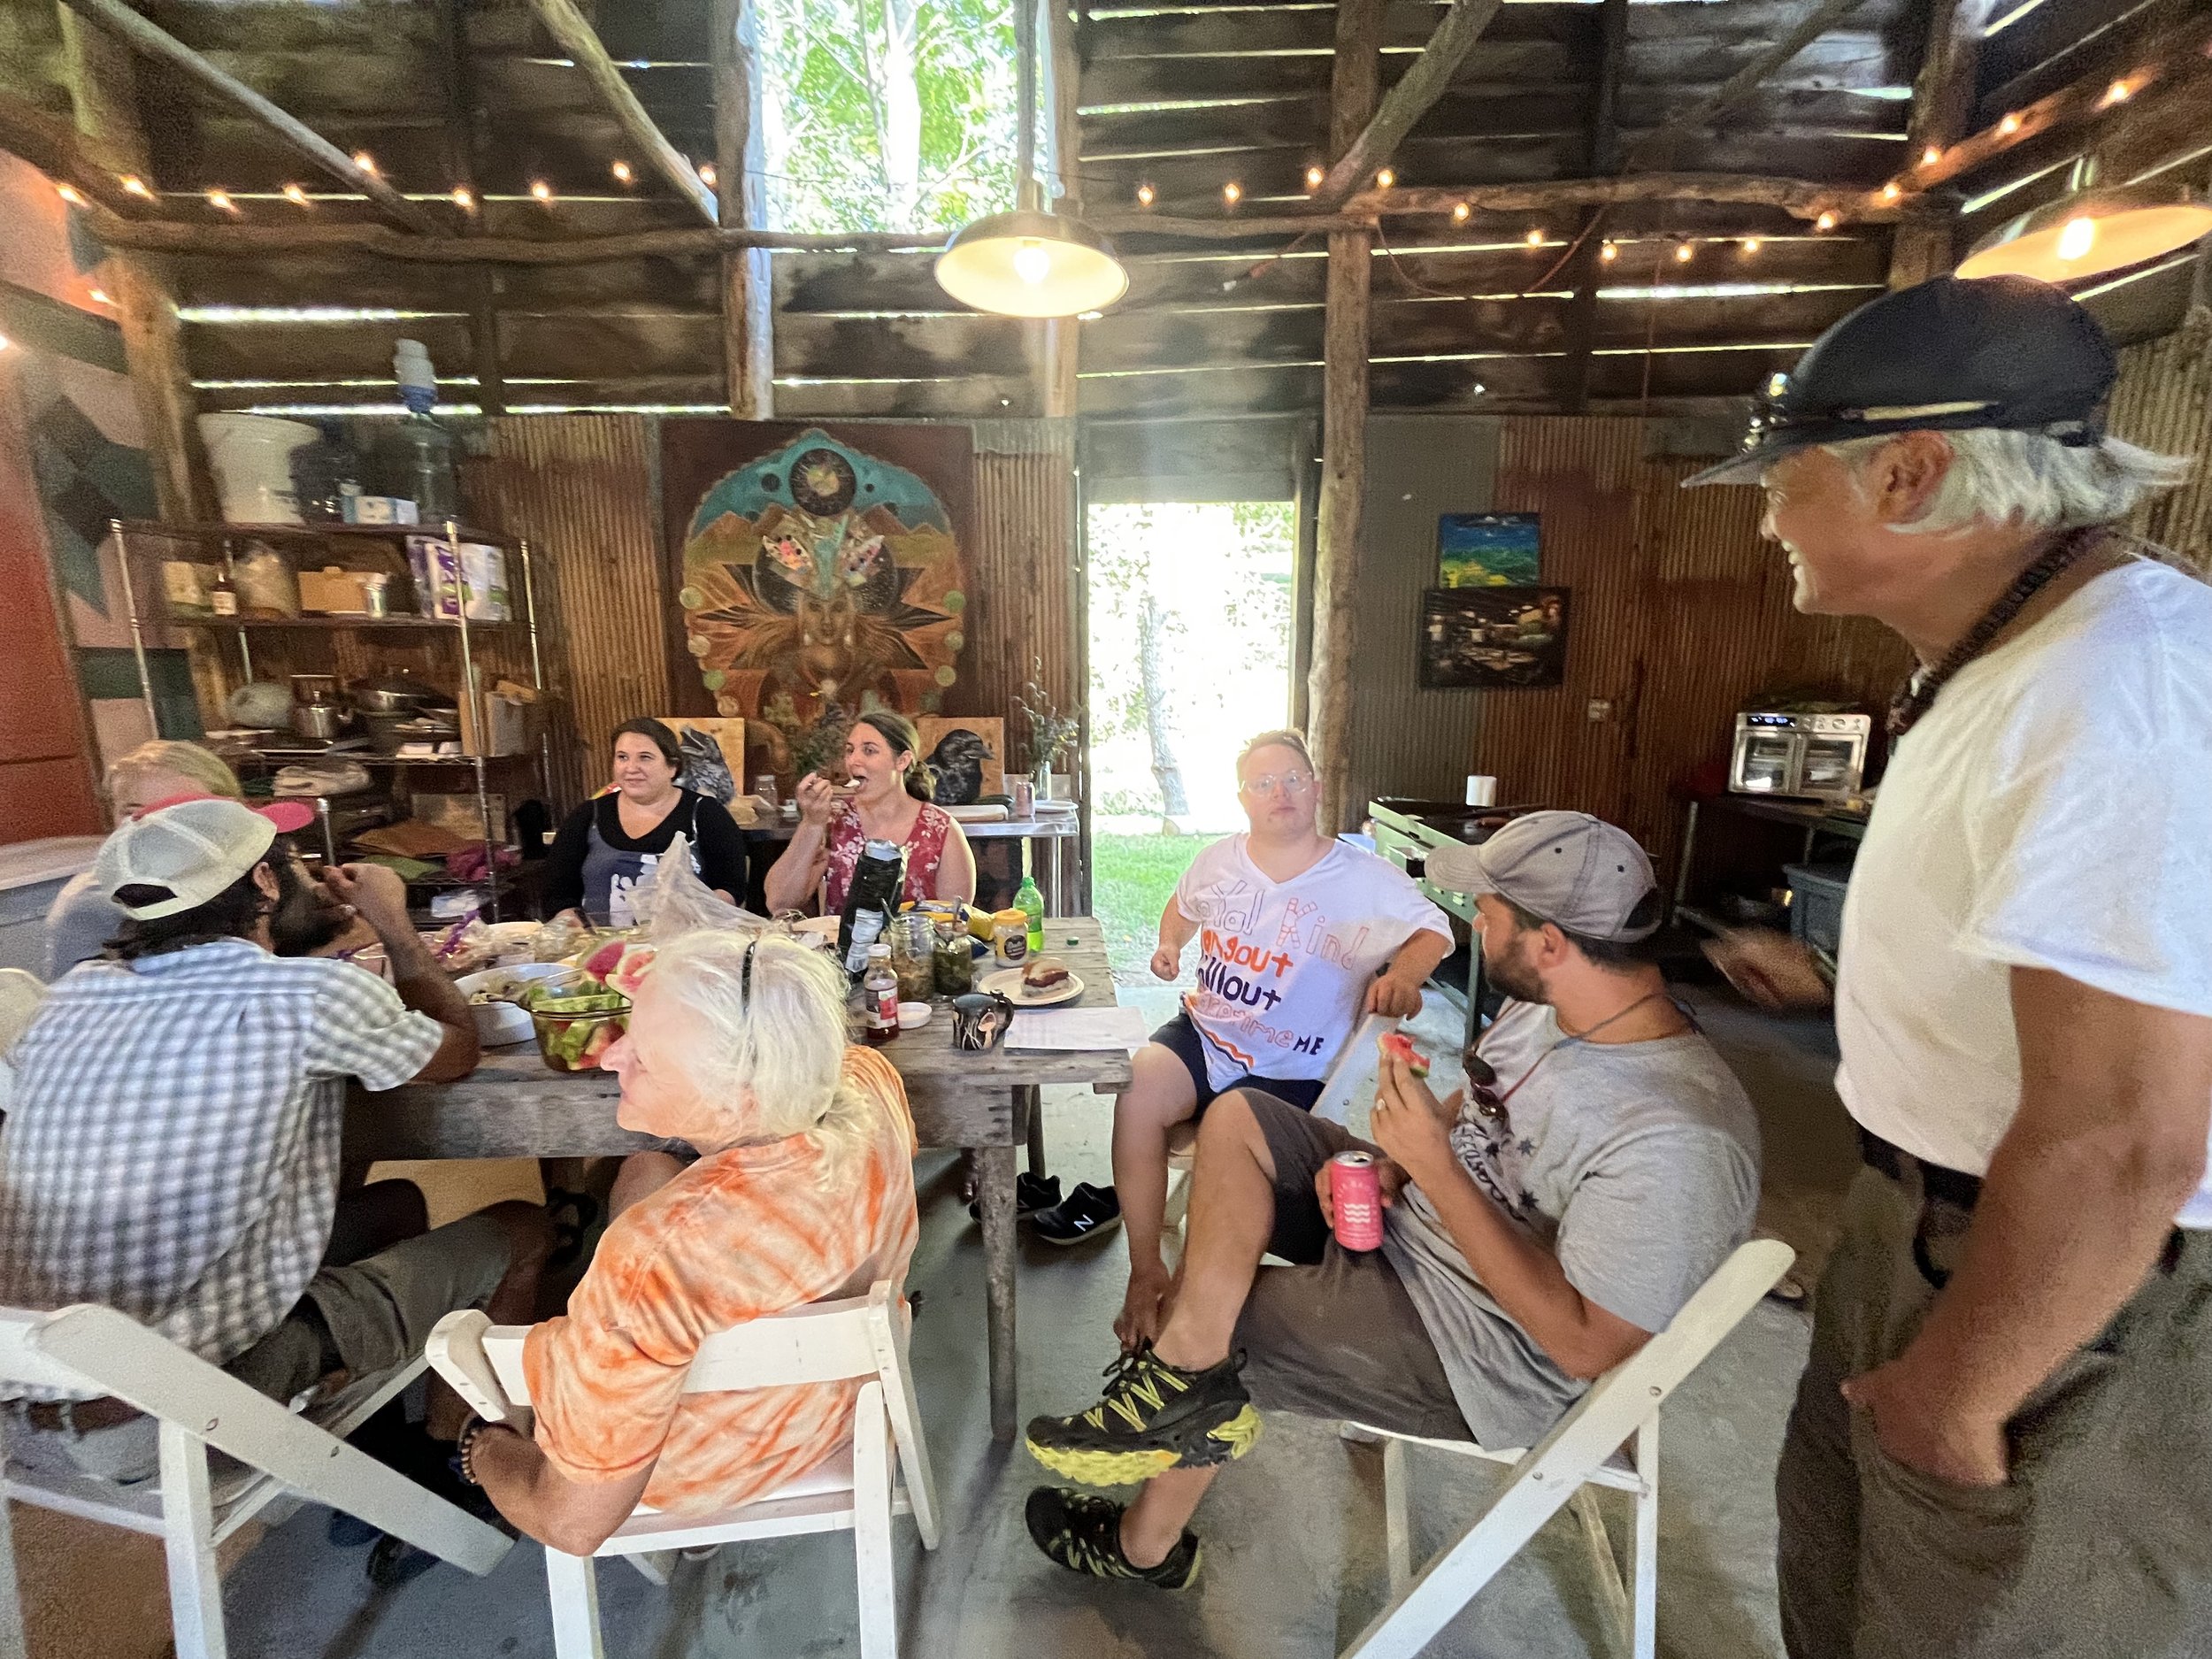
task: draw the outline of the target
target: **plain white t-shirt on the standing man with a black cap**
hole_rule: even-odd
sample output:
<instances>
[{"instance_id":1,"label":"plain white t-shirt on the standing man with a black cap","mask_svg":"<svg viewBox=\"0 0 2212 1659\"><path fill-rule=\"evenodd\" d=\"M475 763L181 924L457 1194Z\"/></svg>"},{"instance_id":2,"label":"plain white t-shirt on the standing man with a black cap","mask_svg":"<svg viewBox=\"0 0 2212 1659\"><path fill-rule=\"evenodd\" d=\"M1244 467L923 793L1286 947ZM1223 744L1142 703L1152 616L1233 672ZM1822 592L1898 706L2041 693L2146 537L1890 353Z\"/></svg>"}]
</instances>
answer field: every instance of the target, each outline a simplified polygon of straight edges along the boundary
<instances>
[{"instance_id":1,"label":"plain white t-shirt on the standing man with a black cap","mask_svg":"<svg viewBox=\"0 0 2212 1659\"><path fill-rule=\"evenodd\" d=\"M2212 586L2135 562L1962 668L1889 761L1838 960L1843 1104L1971 1175L2020 1108L2008 969L2212 1015Z\"/></svg>"}]
</instances>

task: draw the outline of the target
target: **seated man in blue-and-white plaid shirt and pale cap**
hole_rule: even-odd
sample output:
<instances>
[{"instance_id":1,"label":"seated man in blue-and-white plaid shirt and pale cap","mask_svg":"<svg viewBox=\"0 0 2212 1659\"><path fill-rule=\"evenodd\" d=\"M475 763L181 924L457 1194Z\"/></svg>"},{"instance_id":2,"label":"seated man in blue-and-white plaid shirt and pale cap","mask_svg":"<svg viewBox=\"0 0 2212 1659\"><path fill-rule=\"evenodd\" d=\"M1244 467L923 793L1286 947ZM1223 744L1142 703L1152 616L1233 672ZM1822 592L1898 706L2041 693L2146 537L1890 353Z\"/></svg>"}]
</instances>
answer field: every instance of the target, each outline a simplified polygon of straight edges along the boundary
<instances>
[{"instance_id":1,"label":"seated man in blue-and-white plaid shirt and pale cap","mask_svg":"<svg viewBox=\"0 0 2212 1659\"><path fill-rule=\"evenodd\" d=\"M361 1259L332 1252L347 1079L451 1082L478 1060L467 998L416 938L398 878L325 876L376 929L394 984L272 953L272 922L312 889L274 823L237 801L124 823L97 878L128 918L122 938L53 987L11 1055L0 1303L119 1307L279 1400L405 1363L456 1307L489 1301L526 1323L551 1237L535 1206L422 1232L420 1194L396 1188L414 1225L387 1223ZM442 1416L451 1438L462 1413L445 1405L431 1433ZM71 1433L97 1473L150 1473L153 1425L119 1400L22 1416Z\"/></svg>"}]
</instances>

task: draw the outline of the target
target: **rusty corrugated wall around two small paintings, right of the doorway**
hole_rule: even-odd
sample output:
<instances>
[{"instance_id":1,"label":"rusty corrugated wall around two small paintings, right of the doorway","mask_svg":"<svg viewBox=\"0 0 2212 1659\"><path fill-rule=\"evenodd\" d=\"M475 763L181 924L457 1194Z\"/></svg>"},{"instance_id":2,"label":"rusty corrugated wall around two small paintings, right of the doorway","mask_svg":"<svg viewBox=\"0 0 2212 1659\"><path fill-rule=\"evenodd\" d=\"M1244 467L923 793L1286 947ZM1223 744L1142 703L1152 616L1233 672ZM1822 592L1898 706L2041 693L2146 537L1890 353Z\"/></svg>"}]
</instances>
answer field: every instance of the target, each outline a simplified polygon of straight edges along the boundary
<instances>
[{"instance_id":1,"label":"rusty corrugated wall around two small paintings, right of the doorway","mask_svg":"<svg viewBox=\"0 0 2212 1659\"><path fill-rule=\"evenodd\" d=\"M1471 482L1473 431L1491 422L1433 422L1438 451L1396 425L1418 422L1374 420L1367 440L1369 535L1398 546L1367 542L1354 708L1365 794L1455 796L1467 772L1493 772L1502 801L1626 825L1672 878L1672 790L1725 752L1754 692L1803 686L1878 706L1905 672L1905 646L1880 624L1792 611L1787 564L1759 538L1759 491L1679 489L1703 462L1646 460L1637 420L1509 416L1486 504L1544 515L1544 582L1573 591L1566 684L1416 690L1411 595L1433 582L1433 513L1453 511L1427 480L1449 482L1455 465ZM1604 719L1593 701L1610 706Z\"/></svg>"}]
</instances>

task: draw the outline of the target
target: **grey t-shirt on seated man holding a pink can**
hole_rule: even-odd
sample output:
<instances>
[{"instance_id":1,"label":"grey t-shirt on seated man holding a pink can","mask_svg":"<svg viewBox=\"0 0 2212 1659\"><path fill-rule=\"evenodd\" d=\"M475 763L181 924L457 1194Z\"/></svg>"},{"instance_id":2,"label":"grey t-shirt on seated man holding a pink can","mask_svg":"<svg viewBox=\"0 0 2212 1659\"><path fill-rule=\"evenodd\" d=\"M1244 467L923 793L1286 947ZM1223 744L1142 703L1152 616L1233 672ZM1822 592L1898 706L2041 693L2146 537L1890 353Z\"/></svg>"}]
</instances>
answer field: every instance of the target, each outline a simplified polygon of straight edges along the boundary
<instances>
[{"instance_id":1,"label":"grey t-shirt on seated man holding a pink can","mask_svg":"<svg viewBox=\"0 0 2212 1659\"><path fill-rule=\"evenodd\" d=\"M1498 1073L1493 1093L1513 1093L1502 1117L1484 1117L1469 1088L1451 1130L1460 1164L1559 1256L1577 1292L1663 1329L1759 1208L1759 1121L1743 1086L1699 1033L1566 1042L1553 1011L1528 1002L1504 1006L1480 1053ZM1420 1188L1385 1217L1383 1254L1467 1427L1491 1449L1535 1444L1588 1385L1491 1301Z\"/></svg>"}]
</instances>

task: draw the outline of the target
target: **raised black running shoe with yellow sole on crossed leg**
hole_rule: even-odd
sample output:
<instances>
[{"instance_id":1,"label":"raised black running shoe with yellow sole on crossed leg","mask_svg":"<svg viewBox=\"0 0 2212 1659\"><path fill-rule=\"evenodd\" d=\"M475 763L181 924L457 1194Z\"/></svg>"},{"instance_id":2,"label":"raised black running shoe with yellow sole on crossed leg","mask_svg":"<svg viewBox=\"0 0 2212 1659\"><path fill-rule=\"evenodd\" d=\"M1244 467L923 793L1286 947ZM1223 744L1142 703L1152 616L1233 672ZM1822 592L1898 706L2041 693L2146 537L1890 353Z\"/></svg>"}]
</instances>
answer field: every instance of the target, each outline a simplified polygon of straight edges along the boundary
<instances>
[{"instance_id":1,"label":"raised black running shoe with yellow sole on crossed leg","mask_svg":"<svg viewBox=\"0 0 2212 1659\"><path fill-rule=\"evenodd\" d=\"M1259 1440L1259 1411L1237 1374L1243 1354L1179 1371L1146 1343L1106 1367L1106 1394L1073 1418L1033 1418L1029 1455L1086 1486L1133 1486L1164 1469L1212 1469Z\"/></svg>"}]
</instances>

